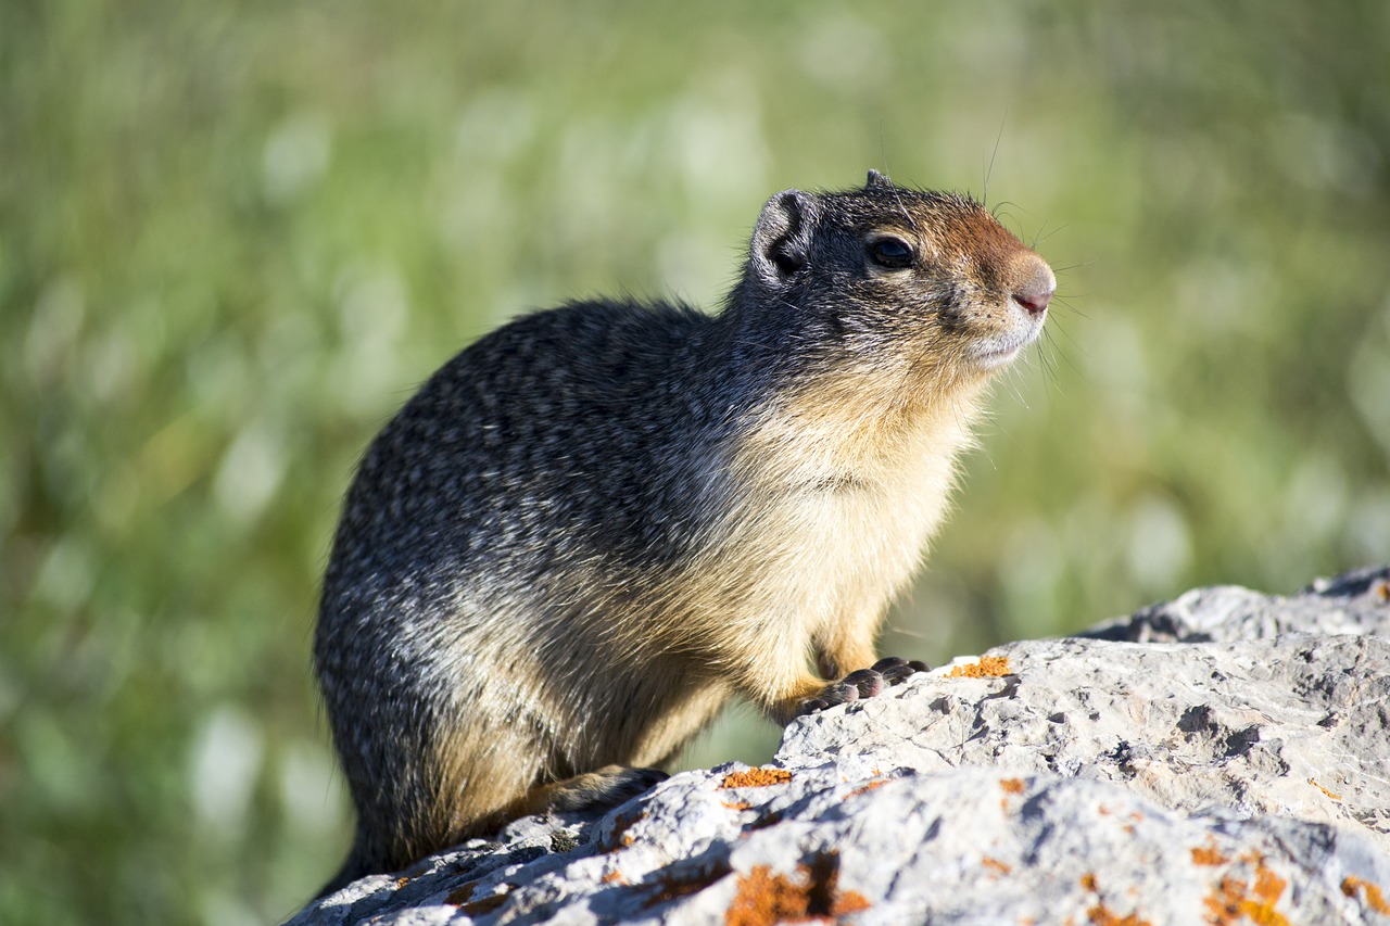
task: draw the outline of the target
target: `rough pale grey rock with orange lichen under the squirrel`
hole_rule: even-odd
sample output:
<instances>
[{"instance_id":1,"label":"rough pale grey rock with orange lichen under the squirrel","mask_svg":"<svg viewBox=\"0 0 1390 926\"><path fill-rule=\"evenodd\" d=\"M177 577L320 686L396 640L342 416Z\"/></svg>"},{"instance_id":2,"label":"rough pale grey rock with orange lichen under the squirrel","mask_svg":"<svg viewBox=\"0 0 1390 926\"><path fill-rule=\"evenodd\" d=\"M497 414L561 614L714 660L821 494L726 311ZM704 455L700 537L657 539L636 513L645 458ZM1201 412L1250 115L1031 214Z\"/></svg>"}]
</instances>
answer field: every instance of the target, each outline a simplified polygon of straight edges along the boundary
<instances>
[{"instance_id":1,"label":"rough pale grey rock with orange lichen under the squirrel","mask_svg":"<svg viewBox=\"0 0 1390 926\"><path fill-rule=\"evenodd\" d=\"M296 923L1387 923L1390 567L1024 641Z\"/></svg>"}]
</instances>

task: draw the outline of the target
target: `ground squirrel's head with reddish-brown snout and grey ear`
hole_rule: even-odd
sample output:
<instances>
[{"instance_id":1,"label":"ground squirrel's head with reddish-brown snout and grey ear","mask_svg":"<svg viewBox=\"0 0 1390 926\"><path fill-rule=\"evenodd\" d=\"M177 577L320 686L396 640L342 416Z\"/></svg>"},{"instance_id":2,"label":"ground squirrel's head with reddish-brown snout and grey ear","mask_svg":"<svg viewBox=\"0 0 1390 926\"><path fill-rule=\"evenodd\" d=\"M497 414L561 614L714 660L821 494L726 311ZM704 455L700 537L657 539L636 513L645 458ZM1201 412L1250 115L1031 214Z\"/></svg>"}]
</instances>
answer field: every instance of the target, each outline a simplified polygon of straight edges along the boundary
<instances>
[{"instance_id":1,"label":"ground squirrel's head with reddish-brown snout and grey ear","mask_svg":"<svg viewBox=\"0 0 1390 926\"><path fill-rule=\"evenodd\" d=\"M973 378L1037 338L1055 288L980 203L869 171L860 189L767 200L735 324L817 368Z\"/></svg>"}]
</instances>

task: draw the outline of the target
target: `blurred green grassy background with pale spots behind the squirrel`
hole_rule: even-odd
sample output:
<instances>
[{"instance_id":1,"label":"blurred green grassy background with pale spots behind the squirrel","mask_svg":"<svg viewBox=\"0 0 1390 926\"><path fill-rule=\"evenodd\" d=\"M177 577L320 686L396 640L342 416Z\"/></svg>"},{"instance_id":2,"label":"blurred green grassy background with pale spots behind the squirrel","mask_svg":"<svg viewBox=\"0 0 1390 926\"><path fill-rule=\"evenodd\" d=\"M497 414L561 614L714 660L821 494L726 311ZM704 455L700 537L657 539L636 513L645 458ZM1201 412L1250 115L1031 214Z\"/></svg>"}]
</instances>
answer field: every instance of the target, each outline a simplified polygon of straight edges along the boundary
<instances>
[{"instance_id":1,"label":"blurred green grassy background with pale spots behind the squirrel","mask_svg":"<svg viewBox=\"0 0 1390 926\"><path fill-rule=\"evenodd\" d=\"M348 845L309 637L356 456L521 310L716 303L781 188L988 177L1059 268L885 649L1386 560L1387 36L1383 0L6 0L0 918L293 912Z\"/></svg>"}]
</instances>

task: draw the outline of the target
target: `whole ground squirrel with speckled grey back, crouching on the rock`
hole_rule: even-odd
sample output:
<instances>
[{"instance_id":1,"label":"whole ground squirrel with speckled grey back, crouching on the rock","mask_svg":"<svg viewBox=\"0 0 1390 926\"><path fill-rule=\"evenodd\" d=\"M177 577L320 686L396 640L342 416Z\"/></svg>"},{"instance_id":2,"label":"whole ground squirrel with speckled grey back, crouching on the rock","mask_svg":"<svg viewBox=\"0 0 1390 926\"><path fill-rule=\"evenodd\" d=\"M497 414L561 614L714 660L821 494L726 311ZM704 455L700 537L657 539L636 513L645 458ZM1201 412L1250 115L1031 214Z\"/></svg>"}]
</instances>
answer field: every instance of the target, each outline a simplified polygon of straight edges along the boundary
<instances>
[{"instance_id":1,"label":"whole ground squirrel with speckled grey back, crouching on the rock","mask_svg":"<svg viewBox=\"0 0 1390 926\"><path fill-rule=\"evenodd\" d=\"M324 578L357 809L325 890L641 793L731 695L785 723L920 667L874 634L1054 288L981 204L870 171L773 196L717 316L578 302L445 364L363 457Z\"/></svg>"}]
</instances>

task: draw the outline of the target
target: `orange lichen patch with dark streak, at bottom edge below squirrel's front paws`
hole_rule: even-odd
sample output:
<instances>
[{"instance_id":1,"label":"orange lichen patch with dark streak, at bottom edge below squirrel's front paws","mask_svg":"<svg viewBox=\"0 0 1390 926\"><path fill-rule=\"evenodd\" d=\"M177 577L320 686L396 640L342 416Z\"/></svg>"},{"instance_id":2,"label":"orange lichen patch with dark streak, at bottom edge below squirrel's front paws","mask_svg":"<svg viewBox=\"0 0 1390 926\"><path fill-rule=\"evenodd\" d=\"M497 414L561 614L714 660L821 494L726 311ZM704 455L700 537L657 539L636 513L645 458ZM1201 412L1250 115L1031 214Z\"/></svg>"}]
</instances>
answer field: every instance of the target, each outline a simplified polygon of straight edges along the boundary
<instances>
[{"instance_id":1,"label":"orange lichen patch with dark streak, at bottom edge below squirrel's front paws","mask_svg":"<svg viewBox=\"0 0 1390 926\"><path fill-rule=\"evenodd\" d=\"M796 866L796 879L755 865L738 876L738 893L724 912L727 926L773 926L838 918L869 909L858 891L841 891L840 856L824 852L810 865Z\"/></svg>"}]
</instances>

